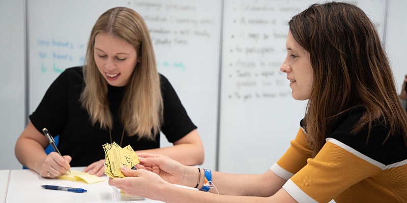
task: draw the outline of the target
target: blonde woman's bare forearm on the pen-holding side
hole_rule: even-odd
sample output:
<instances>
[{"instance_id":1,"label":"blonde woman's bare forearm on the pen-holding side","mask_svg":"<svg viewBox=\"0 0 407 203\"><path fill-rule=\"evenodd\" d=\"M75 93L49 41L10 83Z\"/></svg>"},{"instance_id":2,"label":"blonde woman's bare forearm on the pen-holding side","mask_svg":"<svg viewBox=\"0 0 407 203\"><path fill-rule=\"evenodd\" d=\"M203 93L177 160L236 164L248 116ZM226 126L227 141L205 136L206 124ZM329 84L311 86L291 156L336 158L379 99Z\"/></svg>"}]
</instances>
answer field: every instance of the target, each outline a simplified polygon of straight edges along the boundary
<instances>
[{"instance_id":1,"label":"blonde woman's bare forearm on the pen-holding side","mask_svg":"<svg viewBox=\"0 0 407 203\"><path fill-rule=\"evenodd\" d=\"M27 138L19 138L17 140L14 153L22 165L37 173L40 172L41 164L47 156L40 144Z\"/></svg>"}]
</instances>

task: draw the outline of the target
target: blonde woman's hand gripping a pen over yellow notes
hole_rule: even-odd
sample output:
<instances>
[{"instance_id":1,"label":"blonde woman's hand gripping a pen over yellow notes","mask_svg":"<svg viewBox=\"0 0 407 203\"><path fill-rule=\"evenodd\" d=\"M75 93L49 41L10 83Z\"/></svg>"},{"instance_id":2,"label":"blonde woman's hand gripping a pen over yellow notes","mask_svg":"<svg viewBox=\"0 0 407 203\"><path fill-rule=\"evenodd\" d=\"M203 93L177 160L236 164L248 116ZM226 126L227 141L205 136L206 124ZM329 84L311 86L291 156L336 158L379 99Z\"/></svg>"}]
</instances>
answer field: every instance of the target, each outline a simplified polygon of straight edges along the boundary
<instances>
[{"instance_id":1,"label":"blonde woman's hand gripping a pen over yellow notes","mask_svg":"<svg viewBox=\"0 0 407 203\"><path fill-rule=\"evenodd\" d=\"M71 162L71 156L61 156L59 153L49 153L41 164L41 170L39 174L44 178L55 178L64 175L69 168L69 162Z\"/></svg>"}]
</instances>

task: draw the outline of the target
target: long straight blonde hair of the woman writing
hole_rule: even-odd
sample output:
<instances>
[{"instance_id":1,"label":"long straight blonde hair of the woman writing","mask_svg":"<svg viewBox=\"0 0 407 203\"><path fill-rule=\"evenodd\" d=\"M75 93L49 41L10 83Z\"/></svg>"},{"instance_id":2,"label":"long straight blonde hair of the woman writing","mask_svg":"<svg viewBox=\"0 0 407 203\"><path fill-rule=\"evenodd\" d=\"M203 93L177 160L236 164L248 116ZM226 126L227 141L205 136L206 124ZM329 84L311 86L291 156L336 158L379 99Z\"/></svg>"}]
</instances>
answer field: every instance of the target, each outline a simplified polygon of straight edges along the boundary
<instances>
[{"instance_id":1,"label":"long straight blonde hair of the woman writing","mask_svg":"<svg viewBox=\"0 0 407 203\"><path fill-rule=\"evenodd\" d=\"M112 129L113 118L107 99L107 82L100 74L94 58L95 37L109 33L131 45L137 51L137 63L119 110L120 119L129 136L154 140L163 122L163 100L149 30L141 16L134 10L116 7L103 13L92 28L83 66L85 87L80 101L91 118L92 124Z\"/></svg>"}]
</instances>

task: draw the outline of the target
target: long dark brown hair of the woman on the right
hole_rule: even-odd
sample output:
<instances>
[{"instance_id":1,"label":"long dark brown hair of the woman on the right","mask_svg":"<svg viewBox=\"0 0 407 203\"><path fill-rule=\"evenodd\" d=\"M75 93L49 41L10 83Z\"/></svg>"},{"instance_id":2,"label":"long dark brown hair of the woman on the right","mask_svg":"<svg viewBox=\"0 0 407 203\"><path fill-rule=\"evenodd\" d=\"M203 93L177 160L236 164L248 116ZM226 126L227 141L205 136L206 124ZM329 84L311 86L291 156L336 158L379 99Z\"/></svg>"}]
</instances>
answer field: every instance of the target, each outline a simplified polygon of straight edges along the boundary
<instances>
[{"instance_id":1,"label":"long dark brown hair of the woman on the right","mask_svg":"<svg viewBox=\"0 0 407 203\"><path fill-rule=\"evenodd\" d=\"M365 114L352 130L370 129L373 121L389 127L384 142L401 132L407 143L407 114L401 107L387 55L373 23L346 3L314 4L288 23L294 39L310 53L314 81L305 115L315 155L341 113L356 106Z\"/></svg>"}]
</instances>

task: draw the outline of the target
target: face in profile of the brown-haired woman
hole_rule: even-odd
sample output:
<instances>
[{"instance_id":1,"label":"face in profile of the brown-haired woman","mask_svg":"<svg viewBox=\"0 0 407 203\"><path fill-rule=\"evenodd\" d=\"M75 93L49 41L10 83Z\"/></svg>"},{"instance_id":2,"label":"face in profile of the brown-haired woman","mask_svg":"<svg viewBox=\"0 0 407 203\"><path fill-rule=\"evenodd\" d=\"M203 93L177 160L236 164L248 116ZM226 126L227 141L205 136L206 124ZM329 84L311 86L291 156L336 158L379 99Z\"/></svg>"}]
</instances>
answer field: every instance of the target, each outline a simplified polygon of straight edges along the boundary
<instances>
[{"instance_id":1,"label":"face in profile of the brown-haired woman","mask_svg":"<svg viewBox=\"0 0 407 203\"><path fill-rule=\"evenodd\" d=\"M288 32L285 47L287 56L280 66L280 71L287 74L294 99L309 99L314 81L309 52L294 40L291 32Z\"/></svg>"}]
</instances>

